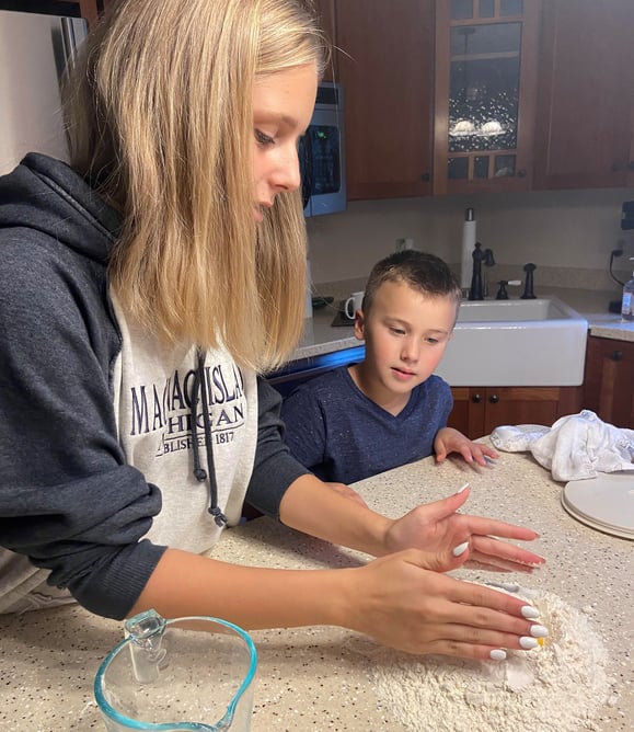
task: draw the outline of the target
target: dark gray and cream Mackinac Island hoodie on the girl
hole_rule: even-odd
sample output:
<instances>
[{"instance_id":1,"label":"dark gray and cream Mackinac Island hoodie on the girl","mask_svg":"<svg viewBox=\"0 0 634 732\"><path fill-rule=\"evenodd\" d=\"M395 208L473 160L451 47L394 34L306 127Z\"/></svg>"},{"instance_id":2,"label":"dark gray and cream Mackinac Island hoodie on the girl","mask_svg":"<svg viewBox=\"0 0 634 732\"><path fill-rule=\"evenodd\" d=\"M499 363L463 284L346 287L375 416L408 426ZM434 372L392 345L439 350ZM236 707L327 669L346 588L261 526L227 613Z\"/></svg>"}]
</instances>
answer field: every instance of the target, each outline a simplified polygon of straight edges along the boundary
<instances>
[{"instance_id":1,"label":"dark gray and cream Mackinac Island hoodie on the girl","mask_svg":"<svg viewBox=\"0 0 634 732\"><path fill-rule=\"evenodd\" d=\"M208 550L245 497L278 516L308 472L269 385L123 316L119 227L57 160L0 178L0 611L47 580L120 619L168 546Z\"/></svg>"}]
</instances>

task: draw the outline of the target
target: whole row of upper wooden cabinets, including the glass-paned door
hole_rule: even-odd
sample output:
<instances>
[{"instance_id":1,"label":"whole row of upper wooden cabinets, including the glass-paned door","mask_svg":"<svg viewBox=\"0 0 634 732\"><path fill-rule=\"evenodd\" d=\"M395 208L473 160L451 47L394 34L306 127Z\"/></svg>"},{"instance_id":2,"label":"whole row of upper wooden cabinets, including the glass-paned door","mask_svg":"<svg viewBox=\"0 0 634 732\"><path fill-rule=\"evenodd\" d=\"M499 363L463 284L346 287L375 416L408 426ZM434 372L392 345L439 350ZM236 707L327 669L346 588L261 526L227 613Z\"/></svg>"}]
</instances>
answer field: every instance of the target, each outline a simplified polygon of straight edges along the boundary
<instances>
[{"instance_id":1,"label":"whole row of upper wooden cabinets, including the glass-paned door","mask_svg":"<svg viewBox=\"0 0 634 732\"><path fill-rule=\"evenodd\" d=\"M634 0L326 4L350 199L634 186Z\"/></svg>"}]
</instances>

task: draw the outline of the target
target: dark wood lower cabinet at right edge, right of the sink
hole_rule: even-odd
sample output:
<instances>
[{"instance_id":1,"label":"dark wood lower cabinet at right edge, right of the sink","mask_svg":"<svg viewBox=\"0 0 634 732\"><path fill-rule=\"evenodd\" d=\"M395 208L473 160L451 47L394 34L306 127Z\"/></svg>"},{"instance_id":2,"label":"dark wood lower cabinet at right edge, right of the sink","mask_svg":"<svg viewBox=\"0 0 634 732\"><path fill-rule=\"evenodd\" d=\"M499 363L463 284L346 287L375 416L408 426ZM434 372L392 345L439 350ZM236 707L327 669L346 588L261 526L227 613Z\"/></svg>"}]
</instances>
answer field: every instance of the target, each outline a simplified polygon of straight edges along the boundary
<instances>
[{"instance_id":1,"label":"dark wood lower cabinet at right edge, right of the sink","mask_svg":"<svg viewBox=\"0 0 634 732\"><path fill-rule=\"evenodd\" d=\"M618 427L634 430L634 343L588 338L584 408Z\"/></svg>"}]
</instances>

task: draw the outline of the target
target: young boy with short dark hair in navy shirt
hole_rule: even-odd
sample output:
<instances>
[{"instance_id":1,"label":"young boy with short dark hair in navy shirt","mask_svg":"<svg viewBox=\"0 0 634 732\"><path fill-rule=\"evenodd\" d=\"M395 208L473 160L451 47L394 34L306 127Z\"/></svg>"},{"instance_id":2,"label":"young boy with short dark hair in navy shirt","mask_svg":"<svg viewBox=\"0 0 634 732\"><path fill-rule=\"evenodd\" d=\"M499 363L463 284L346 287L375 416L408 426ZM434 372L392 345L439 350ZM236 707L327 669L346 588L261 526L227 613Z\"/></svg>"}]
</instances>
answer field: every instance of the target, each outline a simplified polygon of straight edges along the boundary
<instances>
[{"instance_id":1,"label":"young boy with short dark hair in navy shirt","mask_svg":"<svg viewBox=\"0 0 634 732\"><path fill-rule=\"evenodd\" d=\"M374 265L355 316L365 361L311 379L283 405L286 442L302 465L322 480L353 483L433 454L482 466L498 457L447 426L451 390L434 375L460 298L434 254L405 250Z\"/></svg>"}]
</instances>

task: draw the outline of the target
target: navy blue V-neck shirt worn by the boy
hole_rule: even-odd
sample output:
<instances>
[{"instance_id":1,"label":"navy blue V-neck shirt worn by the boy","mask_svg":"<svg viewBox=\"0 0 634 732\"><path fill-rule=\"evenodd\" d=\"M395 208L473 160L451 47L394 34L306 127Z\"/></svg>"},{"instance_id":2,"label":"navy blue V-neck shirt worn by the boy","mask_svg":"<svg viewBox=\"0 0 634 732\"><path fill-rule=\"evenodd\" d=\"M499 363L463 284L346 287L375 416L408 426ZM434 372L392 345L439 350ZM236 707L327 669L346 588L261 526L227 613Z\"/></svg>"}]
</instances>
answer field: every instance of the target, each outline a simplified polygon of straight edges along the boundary
<instances>
[{"instance_id":1,"label":"navy blue V-neck shirt worn by the boy","mask_svg":"<svg viewBox=\"0 0 634 732\"><path fill-rule=\"evenodd\" d=\"M299 462L322 480L353 483L431 455L452 407L449 385L433 375L394 416L366 397L342 366L297 387L281 416Z\"/></svg>"}]
</instances>

